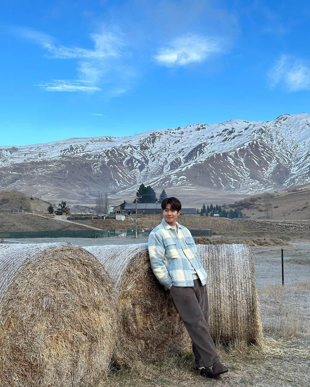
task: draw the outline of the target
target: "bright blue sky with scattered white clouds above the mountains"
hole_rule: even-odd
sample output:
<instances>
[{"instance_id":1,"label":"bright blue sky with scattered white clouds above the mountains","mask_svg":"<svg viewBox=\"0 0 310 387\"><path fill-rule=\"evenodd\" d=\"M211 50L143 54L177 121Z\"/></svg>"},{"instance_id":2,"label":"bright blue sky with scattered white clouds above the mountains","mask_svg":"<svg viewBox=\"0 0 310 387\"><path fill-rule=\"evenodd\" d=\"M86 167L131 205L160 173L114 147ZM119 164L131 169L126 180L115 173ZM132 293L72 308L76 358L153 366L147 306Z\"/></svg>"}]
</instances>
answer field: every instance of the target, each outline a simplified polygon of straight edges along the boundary
<instances>
[{"instance_id":1,"label":"bright blue sky with scattered white clouds above the mountains","mask_svg":"<svg viewBox=\"0 0 310 387\"><path fill-rule=\"evenodd\" d=\"M307 1L1 3L0 145L310 112Z\"/></svg>"}]
</instances>

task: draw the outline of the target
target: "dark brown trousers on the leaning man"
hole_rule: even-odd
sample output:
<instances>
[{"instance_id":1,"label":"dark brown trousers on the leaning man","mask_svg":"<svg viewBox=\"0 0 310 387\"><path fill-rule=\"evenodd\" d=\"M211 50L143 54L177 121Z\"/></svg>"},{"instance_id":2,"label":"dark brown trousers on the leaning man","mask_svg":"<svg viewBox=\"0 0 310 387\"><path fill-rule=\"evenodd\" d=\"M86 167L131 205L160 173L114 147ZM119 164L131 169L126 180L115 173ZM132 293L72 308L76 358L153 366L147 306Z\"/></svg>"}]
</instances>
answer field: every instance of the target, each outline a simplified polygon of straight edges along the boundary
<instances>
[{"instance_id":1,"label":"dark brown trousers on the leaning man","mask_svg":"<svg viewBox=\"0 0 310 387\"><path fill-rule=\"evenodd\" d=\"M206 285L172 286L170 297L193 342L196 367L210 367L220 361L210 335L210 309Z\"/></svg>"}]
</instances>

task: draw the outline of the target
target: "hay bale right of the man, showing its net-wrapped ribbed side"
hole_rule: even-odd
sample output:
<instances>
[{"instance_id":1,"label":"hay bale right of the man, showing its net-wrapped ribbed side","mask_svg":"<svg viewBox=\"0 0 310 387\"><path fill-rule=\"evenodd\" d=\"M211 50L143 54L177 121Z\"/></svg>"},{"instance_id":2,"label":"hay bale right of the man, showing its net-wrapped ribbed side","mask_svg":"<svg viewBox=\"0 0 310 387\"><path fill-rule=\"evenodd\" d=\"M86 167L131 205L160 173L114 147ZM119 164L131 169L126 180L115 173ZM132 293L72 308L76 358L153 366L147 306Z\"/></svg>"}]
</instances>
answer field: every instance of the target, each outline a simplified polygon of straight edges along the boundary
<instances>
[{"instance_id":1,"label":"hay bale right of the man, showing its net-wrapped ribbed side","mask_svg":"<svg viewBox=\"0 0 310 387\"><path fill-rule=\"evenodd\" d=\"M259 342L262 324L253 252L241 244L197 245L197 250L208 273L210 330L214 342Z\"/></svg>"}]
</instances>

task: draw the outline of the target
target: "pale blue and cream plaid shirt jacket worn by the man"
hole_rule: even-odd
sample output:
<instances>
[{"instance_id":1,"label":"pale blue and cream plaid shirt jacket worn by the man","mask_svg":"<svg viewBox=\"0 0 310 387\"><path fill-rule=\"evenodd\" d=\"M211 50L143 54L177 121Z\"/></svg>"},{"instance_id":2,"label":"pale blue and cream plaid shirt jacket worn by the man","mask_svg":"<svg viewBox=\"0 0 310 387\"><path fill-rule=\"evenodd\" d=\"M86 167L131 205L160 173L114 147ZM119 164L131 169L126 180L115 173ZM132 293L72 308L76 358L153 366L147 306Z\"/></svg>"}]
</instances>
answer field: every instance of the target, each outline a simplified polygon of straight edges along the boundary
<instances>
[{"instance_id":1,"label":"pale blue and cream plaid shirt jacket worn by the man","mask_svg":"<svg viewBox=\"0 0 310 387\"><path fill-rule=\"evenodd\" d=\"M171 285L194 286L187 257L202 285L205 285L208 275L200 263L195 241L186 227L179 223L177 227L178 233L163 219L162 223L151 231L148 237L148 253L152 270L166 289Z\"/></svg>"}]
</instances>

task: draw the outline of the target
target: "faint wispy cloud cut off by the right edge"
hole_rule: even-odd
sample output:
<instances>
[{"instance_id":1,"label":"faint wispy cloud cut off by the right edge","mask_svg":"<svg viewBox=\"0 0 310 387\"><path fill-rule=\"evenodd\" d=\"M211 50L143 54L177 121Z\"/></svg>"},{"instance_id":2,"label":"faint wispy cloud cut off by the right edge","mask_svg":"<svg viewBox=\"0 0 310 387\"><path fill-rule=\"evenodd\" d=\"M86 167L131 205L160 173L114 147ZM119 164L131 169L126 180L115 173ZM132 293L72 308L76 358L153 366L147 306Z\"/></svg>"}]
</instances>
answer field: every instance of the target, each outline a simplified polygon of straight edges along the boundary
<instances>
[{"instance_id":1,"label":"faint wispy cloud cut off by the right edge","mask_svg":"<svg viewBox=\"0 0 310 387\"><path fill-rule=\"evenodd\" d=\"M268 77L272 87L282 82L289 91L310 90L310 65L300 58L281 55Z\"/></svg>"}]
</instances>

